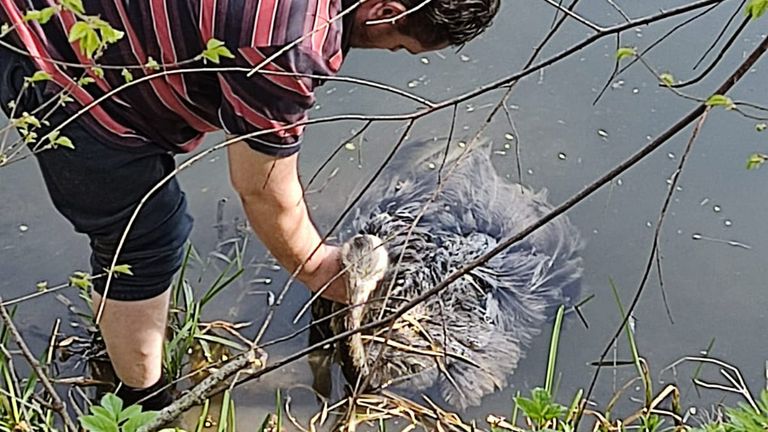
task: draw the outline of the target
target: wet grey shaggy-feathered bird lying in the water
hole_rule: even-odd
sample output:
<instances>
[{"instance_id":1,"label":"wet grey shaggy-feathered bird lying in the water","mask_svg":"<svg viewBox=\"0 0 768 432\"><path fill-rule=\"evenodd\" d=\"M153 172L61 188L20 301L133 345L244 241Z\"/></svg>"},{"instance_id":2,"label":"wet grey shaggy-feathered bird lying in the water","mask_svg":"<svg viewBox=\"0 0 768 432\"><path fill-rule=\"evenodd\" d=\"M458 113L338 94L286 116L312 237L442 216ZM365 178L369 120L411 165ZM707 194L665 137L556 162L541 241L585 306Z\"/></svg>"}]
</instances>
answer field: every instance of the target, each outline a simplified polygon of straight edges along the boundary
<instances>
[{"instance_id":1,"label":"wet grey shaggy-feathered bird lying in the water","mask_svg":"<svg viewBox=\"0 0 768 432\"><path fill-rule=\"evenodd\" d=\"M454 149L438 169L442 151L409 145L374 183L346 225L352 237L342 262L352 306L333 331L391 313L552 209L546 191L501 178L490 147ZM347 379L368 378L371 388L434 386L455 407L479 405L507 386L557 308L577 300L582 247L568 218L556 218L419 304L391 332L345 340Z\"/></svg>"}]
</instances>

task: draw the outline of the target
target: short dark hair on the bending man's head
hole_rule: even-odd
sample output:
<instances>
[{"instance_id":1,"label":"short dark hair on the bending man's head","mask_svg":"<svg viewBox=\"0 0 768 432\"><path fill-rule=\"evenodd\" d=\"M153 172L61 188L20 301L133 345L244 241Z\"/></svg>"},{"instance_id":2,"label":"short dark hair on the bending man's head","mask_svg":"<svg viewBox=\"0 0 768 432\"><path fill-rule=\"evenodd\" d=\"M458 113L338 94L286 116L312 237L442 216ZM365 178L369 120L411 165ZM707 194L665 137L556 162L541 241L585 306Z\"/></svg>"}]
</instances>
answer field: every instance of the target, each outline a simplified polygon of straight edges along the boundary
<instances>
[{"instance_id":1,"label":"short dark hair on the bending man's head","mask_svg":"<svg viewBox=\"0 0 768 432\"><path fill-rule=\"evenodd\" d=\"M428 3L424 3L428 1ZM463 45L491 25L499 0L400 0L408 10L401 24L404 34L427 47Z\"/></svg>"}]
</instances>

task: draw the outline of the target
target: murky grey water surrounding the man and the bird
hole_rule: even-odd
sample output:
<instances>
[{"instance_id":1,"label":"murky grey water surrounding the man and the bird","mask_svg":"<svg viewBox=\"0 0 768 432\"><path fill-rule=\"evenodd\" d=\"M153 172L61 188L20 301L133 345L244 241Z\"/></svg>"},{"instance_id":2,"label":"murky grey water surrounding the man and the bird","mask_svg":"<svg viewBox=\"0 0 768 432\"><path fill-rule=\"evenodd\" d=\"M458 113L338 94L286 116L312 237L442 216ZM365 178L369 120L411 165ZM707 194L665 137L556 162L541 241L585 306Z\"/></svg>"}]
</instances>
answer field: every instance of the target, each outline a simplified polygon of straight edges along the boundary
<instances>
[{"instance_id":1,"label":"murky grey water surrounding the man and the bird","mask_svg":"<svg viewBox=\"0 0 768 432\"><path fill-rule=\"evenodd\" d=\"M682 3L619 2L631 17ZM675 34L649 55L649 61L678 78L693 76L691 66L736 7L736 2L726 2ZM584 2L578 10L601 25L622 20L607 2ZM343 74L442 100L519 70L547 32L552 16L553 10L544 2L527 2L525 6L507 2L493 29L458 53L446 50L414 57L353 52L344 65ZM628 31L622 35L622 45L645 47L679 21ZM687 91L706 97L745 53L765 37L764 26L760 25L762 21L750 26L711 77ZM552 55L587 33L584 27L570 23L543 54ZM694 105L658 88L648 71L635 66L614 80L602 100L593 106L597 92L610 75L614 52L615 41L606 38L543 73L526 78L509 101L514 134L520 145L523 182L535 189L547 188L552 203L562 202L624 160ZM732 97L766 102L762 86L765 67L764 60L734 89ZM495 92L460 104L457 139L470 136L487 115L490 104L499 97L500 93ZM412 102L397 96L331 82L319 91L319 105L313 115L396 113L413 108ZM424 118L416 124L412 137L446 136L449 119L448 110ZM655 272L635 312L635 337L653 375L663 382L677 379L686 391L684 396L688 402L700 408L724 395L704 391L698 396L688 385L694 369L691 365L678 368L676 377L672 372L661 374L660 371L682 356L698 355L713 339L713 356L739 367L752 390L765 386L768 345L763 327L768 310L765 295L768 235L762 224L768 214L768 192L764 187L767 173L747 171L744 167L751 153L764 151L764 134L768 132L760 134L754 126L755 121L722 109L710 115L682 174L661 236L664 286L674 323L665 312ZM360 122L342 122L310 128L302 152L305 178L314 173L338 143L360 127ZM309 198L321 227L327 228L332 223L347 197L371 175L402 127L403 124L394 123L374 125L362 144L358 143L355 150L343 150L324 175L321 174L317 185L339 169L321 193L311 194ZM512 133L504 117L499 116L486 135L499 150L496 157L499 171L516 178L514 151L505 145L514 144L508 139ZM594 294L595 298L582 309L589 328L571 319L561 336L558 371L561 374L559 395L563 399L588 386L594 371L588 363L597 359L620 322L610 281L618 287L625 304L640 281L650 251L653 226L668 191L667 180L679 163L689 135L687 130L677 136L569 213L588 242L584 251L584 295ZM357 148L361 148L360 153ZM506 154L501 154L504 152ZM6 298L32 291L39 280L63 281L72 270L87 267L85 240L73 234L66 222L51 210L42 181L32 165L32 161L26 161L4 168L0 177L0 270L5 275L0 281L0 292ZM242 219L239 204L228 185L226 161L223 155L212 156L183 173L181 179L196 218L192 238L205 255L213 251L217 243L214 224L220 198L229 199L224 206L224 221L230 228L235 219ZM739 242L749 248L707 240L709 238ZM248 255L258 261L264 252L252 242ZM265 285L264 277L272 283ZM253 320L258 325L263 319L267 296L257 292L243 295L244 300L237 304L234 300L240 298L242 292L279 290L284 278L282 272L249 267L243 280L209 310L210 318ZM265 340L296 328L291 321L307 297L301 287L290 291ZM22 326L41 338L51 326L49 311L64 312L52 297L27 304L23 310L25 313L19 314ZM306 322L304 318L299 325ZM305 345L306 336L302 336L273 347L270 355L278 359ZM468 411L467 416L484 418L488 412L508 413L517 390L525 392L541 385L547 348L548 335L544 332L512 377L511 388L488 397L482 408ZM614 353L609 357L613 358ZM620 339L615 357L629 358L624 338ZM716 378L716 372L706 376ZM604 369L594 398L606 401L632 376L631 367ZM308 364L299 361L283 372L245 386L237 395L243 425L252 425L263 418L264 412L274 404L277 388L291 396L293 414L308 418L318 407L309 390L311 383ZM641 392L632 387L622 400L630 404L631 397L641 397ZM735 400L735 397L728 399Z\"/></svg>"}]
</instances>

